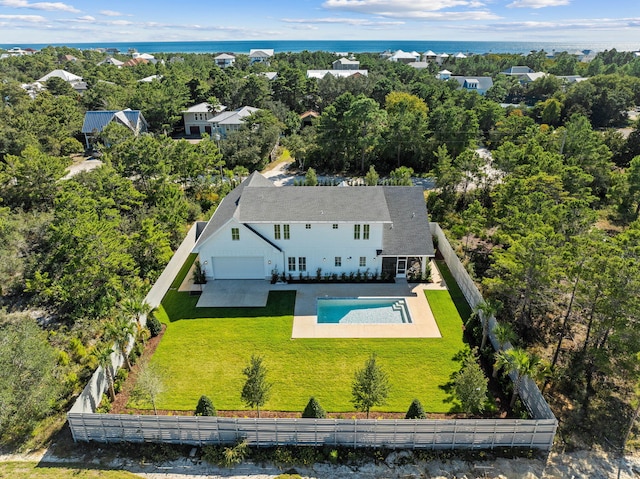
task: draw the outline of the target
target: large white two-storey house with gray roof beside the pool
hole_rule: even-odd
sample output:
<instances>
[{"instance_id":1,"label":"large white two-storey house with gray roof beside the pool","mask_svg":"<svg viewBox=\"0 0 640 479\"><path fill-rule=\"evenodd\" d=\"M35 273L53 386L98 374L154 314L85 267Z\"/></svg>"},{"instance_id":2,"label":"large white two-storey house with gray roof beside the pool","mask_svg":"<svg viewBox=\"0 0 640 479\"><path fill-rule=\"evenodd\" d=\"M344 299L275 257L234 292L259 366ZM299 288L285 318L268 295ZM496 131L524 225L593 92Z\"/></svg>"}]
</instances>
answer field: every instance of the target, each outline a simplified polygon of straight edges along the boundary
<instances>
[{"instance_id":1,"label":"large white two-storey house with gray roof beside the pool","mask_svg":"<svg viewBox=\"0 0 640 479\"><path fill-rule=\"evenodd\" d=\"M210 280L403 278L435 254L421 187L276 187L258 172L222 200L193 252Z\"/></svg>"}]
</instances>

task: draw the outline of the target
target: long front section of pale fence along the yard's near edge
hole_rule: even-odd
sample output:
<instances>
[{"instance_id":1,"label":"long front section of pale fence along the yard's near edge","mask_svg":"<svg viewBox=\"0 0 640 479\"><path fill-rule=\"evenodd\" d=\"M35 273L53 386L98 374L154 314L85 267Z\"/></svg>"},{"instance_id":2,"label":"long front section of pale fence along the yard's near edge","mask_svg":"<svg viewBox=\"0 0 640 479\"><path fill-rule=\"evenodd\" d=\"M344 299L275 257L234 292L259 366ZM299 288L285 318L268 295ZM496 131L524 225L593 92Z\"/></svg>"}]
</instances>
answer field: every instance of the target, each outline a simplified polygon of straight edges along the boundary
<instances>
[{"instance_id":1,"label":"long front section of pale fence along the yard's near edge","mask_svg":"<svg viewBox=\"0 0 640 479\"><path fill-rule=\"evenodd\" d=\"M401 449L549 449L550 419L241 419L69 414L76 441L347 446Z\"/></svg>"}]
</instances>

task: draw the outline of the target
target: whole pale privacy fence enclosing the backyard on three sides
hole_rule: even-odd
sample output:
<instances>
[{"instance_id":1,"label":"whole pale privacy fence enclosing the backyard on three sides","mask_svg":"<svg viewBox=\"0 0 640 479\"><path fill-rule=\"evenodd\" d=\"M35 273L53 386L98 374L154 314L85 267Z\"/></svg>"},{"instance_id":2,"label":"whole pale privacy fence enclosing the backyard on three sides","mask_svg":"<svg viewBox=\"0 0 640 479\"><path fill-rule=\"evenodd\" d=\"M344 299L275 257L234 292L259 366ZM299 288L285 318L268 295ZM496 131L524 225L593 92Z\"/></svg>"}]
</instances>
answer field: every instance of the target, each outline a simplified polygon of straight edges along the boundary
<instances>
[{"instance_id":1,"label":"whole pale privacy fence enclosing the backyard on three sides","mask_svg":"<svg viewBox=\"0 0 640 479\"><path fill-rule=\"evenodd\" d=\"M196 228L176 251L173 259L149 292L147 302L160 304L173 278L191 252ZM449 269L471 306L482 295L458 260L437 223L432 234ZM490 328L495 326L491 318ZM494 347L495 337L490 335ZM114 353L114 367L122 357ZM302 445L388 447L412 449L492 449L526 447L550 450L558 422L533 381L521 387L523 403L533 419L247 419L195 416L151 416L96 414L106 390L106 378L99 368L67 414L75 441L163 442L171 444L233 444L246 440L250 445Z\"/></svg>"}]
</instances>

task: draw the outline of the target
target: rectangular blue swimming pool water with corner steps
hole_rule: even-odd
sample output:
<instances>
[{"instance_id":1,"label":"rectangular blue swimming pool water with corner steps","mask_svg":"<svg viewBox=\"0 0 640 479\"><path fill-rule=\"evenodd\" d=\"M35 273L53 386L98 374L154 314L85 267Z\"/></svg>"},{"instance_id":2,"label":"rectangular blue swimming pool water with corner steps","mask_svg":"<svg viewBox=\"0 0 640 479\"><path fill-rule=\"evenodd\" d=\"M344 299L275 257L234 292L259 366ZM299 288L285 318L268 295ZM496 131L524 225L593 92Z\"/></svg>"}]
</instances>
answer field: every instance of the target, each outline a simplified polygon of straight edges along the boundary
<instances>
[{"instance_id":1,"label":"rectangular blue swimming pool water with corner steps","mask_svg":"<svg viewBox=\"0 0 640 479\"><path fill-rule=\"evenodd\" d=\"M402 298L318 298L318 324L410 323Z\"/></svg>"}]
</instances>

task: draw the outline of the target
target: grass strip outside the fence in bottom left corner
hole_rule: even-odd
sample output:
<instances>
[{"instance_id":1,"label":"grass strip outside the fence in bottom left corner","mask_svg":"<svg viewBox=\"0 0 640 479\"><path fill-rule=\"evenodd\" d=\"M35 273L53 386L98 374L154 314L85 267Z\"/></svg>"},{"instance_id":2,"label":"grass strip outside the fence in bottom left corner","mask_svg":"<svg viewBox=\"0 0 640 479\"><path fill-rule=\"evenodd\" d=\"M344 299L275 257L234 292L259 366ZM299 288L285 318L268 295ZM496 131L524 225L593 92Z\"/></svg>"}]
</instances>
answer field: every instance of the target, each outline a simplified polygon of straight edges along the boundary
<instances>
[{"instance_id":1,"label":"grass strip outside the fence in bottom left corner","mask_svg":"<svg viewBox=\"0 0 640 479\"><path fill-rule=\"evenodd\" d=\"M102 469L87 469L86 465L42 466L37 462L5 462L0 464L0 478L11 479L134 479L137 474L126 471L111 471Z\"/></svg>"}]
</instances>

